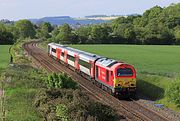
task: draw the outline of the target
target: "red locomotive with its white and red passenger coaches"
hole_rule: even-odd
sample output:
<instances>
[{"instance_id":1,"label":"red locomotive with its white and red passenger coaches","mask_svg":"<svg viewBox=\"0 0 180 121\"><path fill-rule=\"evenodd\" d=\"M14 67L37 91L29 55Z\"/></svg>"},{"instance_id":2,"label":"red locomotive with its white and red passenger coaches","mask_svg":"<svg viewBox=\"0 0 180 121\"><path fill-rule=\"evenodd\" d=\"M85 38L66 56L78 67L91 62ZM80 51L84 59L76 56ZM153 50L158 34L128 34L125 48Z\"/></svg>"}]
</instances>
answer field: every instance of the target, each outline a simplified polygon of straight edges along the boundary
<instances>
[{"instance_id":1,"label":"red locomotive with its white and red passenger coaches","mask_svg":"<svg viewBox=\"0 0 180 121\"><path fill-rule=\"evenodd\" d=\"M48 44L48 55L115 97L136 95L136 70L128 63L57 43Z\"/></svg>"}]
</instances>

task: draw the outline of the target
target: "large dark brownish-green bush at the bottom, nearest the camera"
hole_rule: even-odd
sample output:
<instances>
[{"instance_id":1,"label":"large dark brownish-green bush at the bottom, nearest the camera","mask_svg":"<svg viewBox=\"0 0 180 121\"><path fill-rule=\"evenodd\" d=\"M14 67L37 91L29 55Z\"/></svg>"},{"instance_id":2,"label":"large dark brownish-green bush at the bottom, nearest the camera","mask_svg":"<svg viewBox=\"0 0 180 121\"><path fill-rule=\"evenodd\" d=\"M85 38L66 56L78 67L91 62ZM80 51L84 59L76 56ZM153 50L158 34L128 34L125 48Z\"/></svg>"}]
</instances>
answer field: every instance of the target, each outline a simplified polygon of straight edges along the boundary
<instances>
[{"instance_id":1,"label":"large dark brownish-green bush at the bottom, nearest the camera","mask_svg":"<svg viewBox=\"0 0 180 121\"><path fill-rule=\"evenodd\" d=\"M47 120L114 121L121 119L115 110L95 103L79 89L51 89L37 93L35 106Z\"/></svg>"}]
</instances>

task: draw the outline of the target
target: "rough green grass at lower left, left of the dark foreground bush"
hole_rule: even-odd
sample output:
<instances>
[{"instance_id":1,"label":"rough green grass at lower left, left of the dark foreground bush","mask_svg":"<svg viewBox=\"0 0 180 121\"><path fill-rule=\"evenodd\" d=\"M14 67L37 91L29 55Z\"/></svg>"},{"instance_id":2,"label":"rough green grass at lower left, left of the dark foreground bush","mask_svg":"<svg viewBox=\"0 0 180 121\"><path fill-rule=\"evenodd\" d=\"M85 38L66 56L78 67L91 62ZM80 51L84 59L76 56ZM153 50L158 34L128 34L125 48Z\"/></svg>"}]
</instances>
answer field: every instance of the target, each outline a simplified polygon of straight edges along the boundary
<instances>
[{"instance_id":1,"label":"rough green grass at lower left, left of the dark foreground bush","mask_svg":"<svg viewBox=\"0 0 180 121\"><path fill-rule=\"evenodd\" d=\"M11 77L5 83L6 120L41 121L41 114L33 103L35 95L43 87L42 77L45 75L27 65L9 67L5 75Z\"/></svg>"}]
</instances>

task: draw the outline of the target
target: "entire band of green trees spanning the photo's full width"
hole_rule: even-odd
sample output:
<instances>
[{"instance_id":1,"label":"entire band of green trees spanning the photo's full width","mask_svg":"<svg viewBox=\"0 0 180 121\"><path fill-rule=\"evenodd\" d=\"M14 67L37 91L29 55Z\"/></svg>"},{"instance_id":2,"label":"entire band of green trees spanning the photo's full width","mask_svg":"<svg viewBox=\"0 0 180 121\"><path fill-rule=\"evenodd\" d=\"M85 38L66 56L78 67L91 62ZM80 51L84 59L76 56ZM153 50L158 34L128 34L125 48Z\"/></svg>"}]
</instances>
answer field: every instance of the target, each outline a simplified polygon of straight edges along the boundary
<instances>
[{"instance_id":1,"label":"entire band of green trees spanning the photo's full width","mask_svg":"<svg viewBox=\"0 0 180 121\"><path fill-rule=\"evenodd\" d=\"M33 25L28 20L0 24L0 44L23 38L41 38L62 44L180 44L180 3L98 25L72 28L68 24Z\"/></svg>"}]
</instances>

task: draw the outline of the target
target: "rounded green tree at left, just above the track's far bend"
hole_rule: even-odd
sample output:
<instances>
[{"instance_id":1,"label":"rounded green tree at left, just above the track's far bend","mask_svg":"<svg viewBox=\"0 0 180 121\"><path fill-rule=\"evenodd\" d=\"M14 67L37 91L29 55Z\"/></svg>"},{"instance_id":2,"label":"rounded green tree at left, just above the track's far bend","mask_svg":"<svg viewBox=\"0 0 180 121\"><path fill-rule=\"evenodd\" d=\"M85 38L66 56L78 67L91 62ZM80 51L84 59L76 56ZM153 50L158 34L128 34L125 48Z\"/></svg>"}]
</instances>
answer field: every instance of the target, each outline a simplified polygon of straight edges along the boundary
<instances>
[{"instance_id":1,"label":"rounded green tree at left, just above the track's far bend","mask_svg":"<svg viewBox=\"0 0 180 121\"><path fill-rule=\"evenodd\" d=\"M35 29L33 24L29 20L19 20L15 24L17 28L17 34L19 38L34 38L35 37Z\"/></svg>"}]
</instances>

